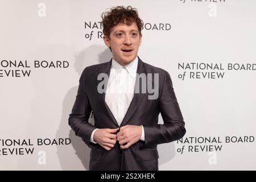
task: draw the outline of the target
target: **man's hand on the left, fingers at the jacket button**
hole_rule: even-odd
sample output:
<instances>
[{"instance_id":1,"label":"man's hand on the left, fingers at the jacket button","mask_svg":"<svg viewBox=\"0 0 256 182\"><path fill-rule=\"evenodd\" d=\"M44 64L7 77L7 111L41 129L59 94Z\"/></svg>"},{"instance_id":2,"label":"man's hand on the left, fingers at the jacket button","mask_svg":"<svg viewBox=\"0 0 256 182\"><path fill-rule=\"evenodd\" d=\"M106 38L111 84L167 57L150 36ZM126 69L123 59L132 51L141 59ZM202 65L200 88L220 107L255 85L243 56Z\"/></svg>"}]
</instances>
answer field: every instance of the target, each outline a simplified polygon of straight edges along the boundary
<instances>
[{"instance_id":1,"label":"man's hand on the left, fingers at the jacket button","mask_svg":"<svg viewBox=\"0 0 256 182\"><path fill-rule=\"evenodd\" d=\"M100 144L106 150L111 150L117 142L117 135L113 134L119 129L98 129L93 135L93 140Z\"/></svg>"}]
</instances>

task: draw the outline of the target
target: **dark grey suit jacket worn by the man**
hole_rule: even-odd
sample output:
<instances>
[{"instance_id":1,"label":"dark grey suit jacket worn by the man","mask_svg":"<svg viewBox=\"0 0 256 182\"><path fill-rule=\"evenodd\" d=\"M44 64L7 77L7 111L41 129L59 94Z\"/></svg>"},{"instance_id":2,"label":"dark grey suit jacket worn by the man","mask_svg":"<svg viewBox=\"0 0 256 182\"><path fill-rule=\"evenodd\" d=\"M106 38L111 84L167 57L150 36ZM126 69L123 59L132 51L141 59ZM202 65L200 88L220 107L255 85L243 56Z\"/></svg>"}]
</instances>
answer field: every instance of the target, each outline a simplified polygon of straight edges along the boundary
<instances>
[{"instance_id":1,"label":"dark grey suit jacket worn by the man","mask_svg":"<svg viewBox=\"0 0 256 182\"><path fill-rule=\"evenodd\" d=\"M182 138L185 134L185 123L169 73L146 64L141 59L138 59L138 74L159 73L159 96L156 100L148 100L148 92L134 93L120 127L143 125L145 141L139 140L125 150L121 150L117 142L110 151L90 142L94 129L119 127L105 102L105 93L97 92L97 86L101 82L97 80L97 76L100 73L109 75L111 65L112 60L84 69L79 80L76 101L68 119L75 134L91 148L89 170L158 170L157 145ZM94 126L88 122L91 112ZM158 124L159 113L162 115L163 125Z\"/></svg>"}]
</instances>

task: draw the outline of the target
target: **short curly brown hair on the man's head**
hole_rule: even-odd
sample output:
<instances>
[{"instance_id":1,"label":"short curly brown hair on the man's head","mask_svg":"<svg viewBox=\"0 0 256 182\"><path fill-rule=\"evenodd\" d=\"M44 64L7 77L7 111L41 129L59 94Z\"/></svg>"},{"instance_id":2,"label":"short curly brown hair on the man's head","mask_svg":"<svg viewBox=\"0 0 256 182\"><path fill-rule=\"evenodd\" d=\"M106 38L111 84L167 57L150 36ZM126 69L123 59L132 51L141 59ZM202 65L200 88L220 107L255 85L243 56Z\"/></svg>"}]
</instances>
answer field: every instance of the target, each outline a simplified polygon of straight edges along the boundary
<instances>
[{"instance_id":1,"label":"short curly brown hair on the man's head","mask_svg":"<svg viewBox=\"0 0 256 182\"><path fill-rule=\"evenodd\" d=\"M112 7L109 11L101 14L103 34L109 38L111 29L118 23L126 23L130 26L133 22L137 24L139 35L141 36L141 29L143 21L139 18L137 9L131 6L116 6Z\"/></svg>"}]
</instances>

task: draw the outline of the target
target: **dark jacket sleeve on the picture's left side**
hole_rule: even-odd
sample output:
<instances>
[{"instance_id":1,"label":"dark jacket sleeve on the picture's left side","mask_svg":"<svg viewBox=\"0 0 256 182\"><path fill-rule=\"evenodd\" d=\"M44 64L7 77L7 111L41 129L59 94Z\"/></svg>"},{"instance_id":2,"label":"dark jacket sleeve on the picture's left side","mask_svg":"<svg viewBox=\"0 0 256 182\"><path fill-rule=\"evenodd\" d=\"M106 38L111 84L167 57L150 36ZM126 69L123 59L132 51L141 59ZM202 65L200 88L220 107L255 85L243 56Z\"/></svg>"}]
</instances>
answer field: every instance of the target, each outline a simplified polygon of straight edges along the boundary
<instances>
[{"instance_id":1,"label":"dark jacket sleeve on the picture's left side","mask_svg":"<svg viewBox=\"0 0 256 182\"><path fill-rule=\"evenodd\" d=\"M86 68L82 72L79 80L76 101L69 115L68 124L71 126L72 130L75 131L75 134L81 137L82 140L91 147L90 137L96 127L88 122L92 108L86 94L85 72Z\"/></svg>"}]
</instances>

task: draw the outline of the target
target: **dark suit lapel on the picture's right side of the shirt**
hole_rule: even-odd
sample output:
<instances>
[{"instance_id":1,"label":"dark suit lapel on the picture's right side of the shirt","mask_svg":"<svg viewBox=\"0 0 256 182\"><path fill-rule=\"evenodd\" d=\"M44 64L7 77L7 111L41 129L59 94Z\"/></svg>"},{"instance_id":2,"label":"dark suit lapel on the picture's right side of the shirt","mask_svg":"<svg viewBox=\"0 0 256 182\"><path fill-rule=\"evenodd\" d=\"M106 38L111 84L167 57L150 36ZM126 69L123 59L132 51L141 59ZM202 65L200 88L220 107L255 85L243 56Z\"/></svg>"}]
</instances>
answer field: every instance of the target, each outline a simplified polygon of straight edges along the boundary
<instances>
[{"instance_id":1,"label":"dark suit lapel on the picture's right side of the shirt","mask_svg":"<svg viewBox=\"0 0 256 182\"><path fill-rule=\"evenodd\" d=\"M136 75L136 81L135 81L135 89L134 89L134 96L133 96L133 100L131 101L131 104L125 114L125 117L123 118L123 121L121 122L121 126L126 125L126 123L129 121L129 119L131 118L131 116L134 114L134 112L137 110L139 104L141 104L141 101L144 97L146 97L146 93L135 93L135 90L138 89L138 86L140 84L138 84L139 82L139 78L138 75L140 75L141 73L144 73L145 75L147 75L146 72L146 68L144 66L144 63L142 62L142 60L138 57L138 67L137 67L137 75Z\"/></svg>"}]
</instances>

